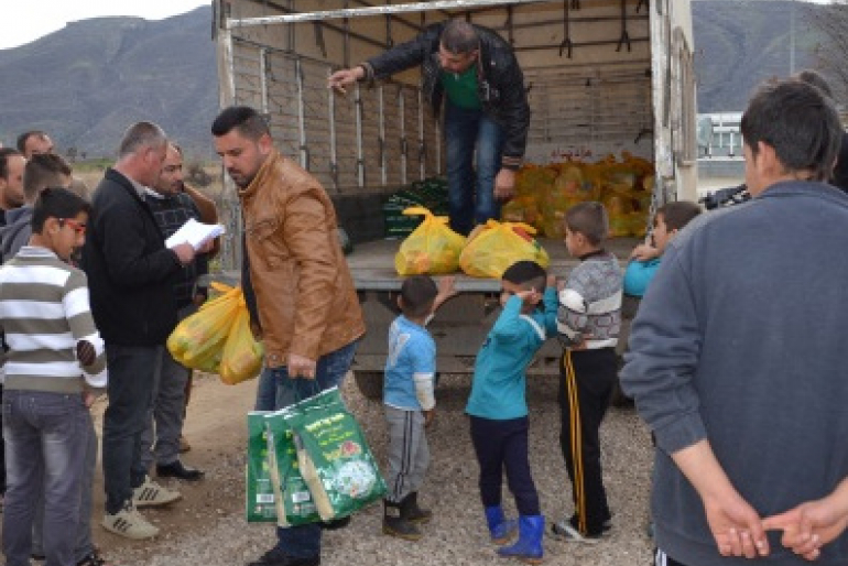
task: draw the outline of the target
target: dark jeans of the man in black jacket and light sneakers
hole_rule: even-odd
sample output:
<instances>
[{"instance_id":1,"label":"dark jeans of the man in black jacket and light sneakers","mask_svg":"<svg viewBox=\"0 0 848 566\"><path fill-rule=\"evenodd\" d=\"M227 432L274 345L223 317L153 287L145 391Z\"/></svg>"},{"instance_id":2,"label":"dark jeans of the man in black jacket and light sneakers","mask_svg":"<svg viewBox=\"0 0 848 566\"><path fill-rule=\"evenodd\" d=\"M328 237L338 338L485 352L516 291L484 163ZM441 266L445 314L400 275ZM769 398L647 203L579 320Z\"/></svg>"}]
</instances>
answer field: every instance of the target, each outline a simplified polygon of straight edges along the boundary
<instances>
[{"instance_id":1,"label":"dark jeans of the man in black jacket and light sneakers","mask_svg":"<svg viewBox=\"0 0 848 566\"><path fill-rule=\"evenodd\" d=\"M144 482L141 435L164 351L164 346L106 346L109 405L104 414L102 458L109 514L120 511L132 499L132 490Z\"/></svg>"}]
</instances>

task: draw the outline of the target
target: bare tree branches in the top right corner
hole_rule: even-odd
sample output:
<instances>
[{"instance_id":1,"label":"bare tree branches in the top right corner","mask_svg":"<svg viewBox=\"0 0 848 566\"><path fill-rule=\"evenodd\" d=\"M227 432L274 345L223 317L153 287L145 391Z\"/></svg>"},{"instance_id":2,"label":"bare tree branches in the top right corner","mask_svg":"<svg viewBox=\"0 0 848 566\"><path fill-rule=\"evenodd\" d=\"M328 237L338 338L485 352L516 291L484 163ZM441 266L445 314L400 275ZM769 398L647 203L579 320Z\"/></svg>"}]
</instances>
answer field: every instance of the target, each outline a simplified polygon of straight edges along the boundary
<instances>
[{"instance_id":1,"label":"bare tree branches in the top right corner","mask_svg":"<svg viewBox=\"0 0 848 566\"><path fill-rule=\"evenodd\" d=\"M827 76L837 102L848 100L848 0L808 4L805 17L822 34L816 46L818 66Z\"/></svg>"}]
</instances>

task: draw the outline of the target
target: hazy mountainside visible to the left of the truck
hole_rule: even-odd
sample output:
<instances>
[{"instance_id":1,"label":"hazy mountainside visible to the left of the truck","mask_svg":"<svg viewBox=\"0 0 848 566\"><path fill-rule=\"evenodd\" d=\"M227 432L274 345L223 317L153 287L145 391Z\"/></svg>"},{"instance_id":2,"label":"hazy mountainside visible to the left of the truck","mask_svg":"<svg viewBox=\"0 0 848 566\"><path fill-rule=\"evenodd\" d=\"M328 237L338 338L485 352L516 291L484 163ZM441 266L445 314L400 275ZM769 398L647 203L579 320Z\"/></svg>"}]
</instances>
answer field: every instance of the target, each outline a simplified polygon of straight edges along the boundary
<instances>
[{"instance_id":1,"label":"hazy mountainside visible to the left of the truck","mask_svg":"<svg viewBox=\"0 0 848 566\"><path fill-rule=\"evenodd\" d=\"M211 155L218 105L211 9L161 21L96 18L0 51L0 140L40 129L62 148L113 155L138 120Z\"/></svg>"}]
</instances>

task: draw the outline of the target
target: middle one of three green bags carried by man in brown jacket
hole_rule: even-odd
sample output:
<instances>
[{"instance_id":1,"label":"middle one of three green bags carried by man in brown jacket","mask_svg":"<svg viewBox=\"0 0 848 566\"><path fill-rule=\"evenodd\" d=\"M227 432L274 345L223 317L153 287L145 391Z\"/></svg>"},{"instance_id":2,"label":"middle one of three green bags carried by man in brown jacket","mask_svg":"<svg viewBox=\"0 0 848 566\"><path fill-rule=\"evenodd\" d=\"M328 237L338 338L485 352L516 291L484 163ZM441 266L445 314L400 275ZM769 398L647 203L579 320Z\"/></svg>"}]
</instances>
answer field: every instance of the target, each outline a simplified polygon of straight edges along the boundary
<instances>
[{"instance_id":1,"label":"middle one of three green bags carried by man in brown jacket","mask_svg":"<svg viewBox=\"0 0 848 566\"><path fill-rule=\"evenodd\" d=\"M301 475L293 434L284 418L286 411L283 409L265 417L276 524L282 527L320 521L309 488Z\"/></svg>"}]
</instances>

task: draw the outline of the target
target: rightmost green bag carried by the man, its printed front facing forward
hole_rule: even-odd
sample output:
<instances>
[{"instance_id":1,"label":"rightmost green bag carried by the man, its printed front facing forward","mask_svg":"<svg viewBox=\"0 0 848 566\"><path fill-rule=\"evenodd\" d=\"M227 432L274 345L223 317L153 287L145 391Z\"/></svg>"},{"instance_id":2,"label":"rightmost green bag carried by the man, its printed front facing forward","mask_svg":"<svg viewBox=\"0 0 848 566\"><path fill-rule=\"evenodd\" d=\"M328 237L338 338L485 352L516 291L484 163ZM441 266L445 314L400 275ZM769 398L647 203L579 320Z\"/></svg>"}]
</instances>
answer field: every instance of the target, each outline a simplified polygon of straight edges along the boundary
<instances>
[{"instance_id":1,"label":"rightmost green bag carried by the man, its printed front facing forward","mask_svg":"<svg viewBox=\"0 0 848 566\"><path fill-rule=\"evenodd\" d=\"M383 497L385 482L338 388L292 405L283 417L322 520L347 516Z\"/></svg>"}]
</instances>

